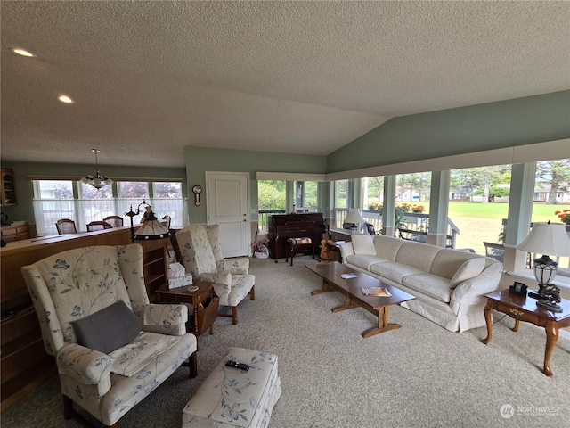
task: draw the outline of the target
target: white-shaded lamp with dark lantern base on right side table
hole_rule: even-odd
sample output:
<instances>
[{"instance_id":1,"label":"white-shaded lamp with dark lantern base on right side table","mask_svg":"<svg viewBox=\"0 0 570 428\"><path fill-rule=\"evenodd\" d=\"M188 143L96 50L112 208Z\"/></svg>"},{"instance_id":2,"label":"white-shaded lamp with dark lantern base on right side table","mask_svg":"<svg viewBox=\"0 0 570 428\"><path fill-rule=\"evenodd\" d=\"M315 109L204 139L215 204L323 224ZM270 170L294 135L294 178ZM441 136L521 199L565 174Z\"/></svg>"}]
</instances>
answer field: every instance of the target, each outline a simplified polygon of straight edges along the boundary
<instances>
[{"instance_id":1,"label":"white-shaded lamp with dark lantern base on right side table","mask_svg":"<svg viewBox=\"0 0 570 428\"><path fill-rule=\"evenodd\" d=\"M517 250L535 254L543 254L542 257L533 259L534 277L538 282L538 292L529 293L530 297L538 299L540 306L560 311L560 290L554 284L550 284L558 269L558 262L549 256L570 256L570 238L566 233L566 225L562 223L534 223L531 233L526 236L522 243L517 245Z\"/></svg>"}]
</instances>

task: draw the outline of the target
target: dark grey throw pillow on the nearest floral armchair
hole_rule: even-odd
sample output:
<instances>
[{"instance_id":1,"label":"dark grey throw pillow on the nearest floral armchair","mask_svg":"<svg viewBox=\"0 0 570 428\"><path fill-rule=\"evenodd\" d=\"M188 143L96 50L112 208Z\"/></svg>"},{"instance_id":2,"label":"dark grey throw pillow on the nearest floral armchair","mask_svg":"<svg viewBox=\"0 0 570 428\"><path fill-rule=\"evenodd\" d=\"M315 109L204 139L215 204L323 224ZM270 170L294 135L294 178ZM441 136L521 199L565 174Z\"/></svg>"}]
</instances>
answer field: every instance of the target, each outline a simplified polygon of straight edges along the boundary
<instances>
[{"instance_id":1,"label":"dark grey throw pillow on the nearest floral armchair","mask_svg":"<svg viewBox=\"0 0 570 428\"><path fill-rule=\"evenodd\" d=\"M141 332L140 319L123 300L78 319L71 325L78 344L104 354L133 342Z\"/></svg>"}]
</instances>

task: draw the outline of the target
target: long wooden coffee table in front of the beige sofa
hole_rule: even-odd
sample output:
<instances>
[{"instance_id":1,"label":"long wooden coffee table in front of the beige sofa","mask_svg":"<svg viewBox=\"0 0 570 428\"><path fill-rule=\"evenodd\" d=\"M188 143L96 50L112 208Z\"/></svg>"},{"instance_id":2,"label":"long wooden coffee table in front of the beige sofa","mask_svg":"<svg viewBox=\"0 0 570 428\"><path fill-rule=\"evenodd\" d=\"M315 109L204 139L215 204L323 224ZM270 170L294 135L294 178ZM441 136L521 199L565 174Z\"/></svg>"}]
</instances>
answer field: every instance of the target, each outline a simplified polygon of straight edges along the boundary
<instances>
[{"instance_id":1,"label":"long wooden coffee table in front of the beige sofa","mask_svg":"<svg viewBox=\"0 0 570 428\"><path fill-rule=\"evenodd\" d=\"M390 324L388 322L388 308L390 305L397 305L403 301L415 299L411 294L398 290L391 285L383 284L379 279L376 279L373 276L366 275L362 272L354 272L351 268L347 268L338 261L305 266L309 270L312 270L316 275L322 277L322 289L315 290L311 294L315 295L322 292L337 291L345 295L345 305L331 309L333 312L353 308L363 308L378 317L378 327L365 331L362 333L362 337L371 337L375 334L400 328L402 325ZM356 277L349 279L340 277L342 274L348 273L354 273L356 274ZM361 287L384 287L388 292L390 292L390 294L392 294L392 297L365 296L360 290Z\"/></svg>"}]
</instances>

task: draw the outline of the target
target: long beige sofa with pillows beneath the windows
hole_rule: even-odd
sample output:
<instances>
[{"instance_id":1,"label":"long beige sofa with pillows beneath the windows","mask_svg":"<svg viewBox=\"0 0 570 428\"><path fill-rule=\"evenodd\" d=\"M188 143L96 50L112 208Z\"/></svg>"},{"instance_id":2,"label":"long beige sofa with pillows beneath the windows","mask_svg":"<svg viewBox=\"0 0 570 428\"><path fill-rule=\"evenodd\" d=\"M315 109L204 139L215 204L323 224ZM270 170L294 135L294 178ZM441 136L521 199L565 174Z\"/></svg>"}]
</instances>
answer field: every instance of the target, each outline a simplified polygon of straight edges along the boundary
<instances>
[{"instance_id":1,"label":"long beige sofa with pillows beneath the windows","mask_svg":"<svg viewBox=\"0 0 570 428\"><path fill-rule=\"evenodd\" d=\"M401 306L452 332L485 325L483 296L501 280L497 260L391 236L354 235L340 253L346 266L416 296Z\"/></svg>"}]
</instances>

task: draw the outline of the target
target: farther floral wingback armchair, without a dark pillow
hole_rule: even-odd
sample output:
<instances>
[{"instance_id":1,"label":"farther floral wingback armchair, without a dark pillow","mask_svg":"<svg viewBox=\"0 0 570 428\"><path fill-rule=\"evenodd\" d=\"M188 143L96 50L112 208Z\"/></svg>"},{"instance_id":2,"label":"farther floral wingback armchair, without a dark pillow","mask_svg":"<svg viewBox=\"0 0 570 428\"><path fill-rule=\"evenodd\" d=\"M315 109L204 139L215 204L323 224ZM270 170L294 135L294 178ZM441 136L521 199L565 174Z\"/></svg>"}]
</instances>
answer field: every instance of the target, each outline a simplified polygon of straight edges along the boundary
<instances>
[{"instance_id":1,"label":"farther floral wingback armchair, without a dark pillow","mask_svg":"<svg viewBox=\"0 0 570 428\"><path fill-rule=\"evenodd\" d=\"M251 300L256 299L256 277L249 275L249 259L224 259L218 225L186 226L176 232L176 241L186 273L213 283L219 304L232 307L232 323L238 324L240 301L248 294Z\"/></svg>"}]
</instances>

